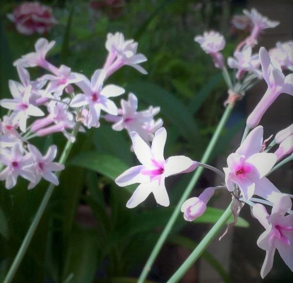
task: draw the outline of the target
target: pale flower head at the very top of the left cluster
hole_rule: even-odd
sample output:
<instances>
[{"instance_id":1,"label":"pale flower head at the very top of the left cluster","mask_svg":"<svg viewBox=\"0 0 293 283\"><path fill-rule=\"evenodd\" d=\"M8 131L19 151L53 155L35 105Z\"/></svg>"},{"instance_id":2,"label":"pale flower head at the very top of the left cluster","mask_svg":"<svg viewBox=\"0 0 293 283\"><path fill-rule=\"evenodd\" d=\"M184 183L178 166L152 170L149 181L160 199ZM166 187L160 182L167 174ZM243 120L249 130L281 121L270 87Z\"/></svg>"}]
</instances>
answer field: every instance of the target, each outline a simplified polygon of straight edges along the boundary
<instances>
[{"instance_id":1,"label":"pale flower head at the very top of the left cluster","mask_svg":"<svg viewBox=\"0 0 293 283\"><path fill-rule=\"evenodd\" d=\"M134 40L125 40L120 32L109 33L105 47L108 50L108 57L104 65L107 77L124 65L129 65L142 74L147 74L146 70L139 64L147 61L146 56L137 54L138 43Z\"/></svg>"}]
</instances>

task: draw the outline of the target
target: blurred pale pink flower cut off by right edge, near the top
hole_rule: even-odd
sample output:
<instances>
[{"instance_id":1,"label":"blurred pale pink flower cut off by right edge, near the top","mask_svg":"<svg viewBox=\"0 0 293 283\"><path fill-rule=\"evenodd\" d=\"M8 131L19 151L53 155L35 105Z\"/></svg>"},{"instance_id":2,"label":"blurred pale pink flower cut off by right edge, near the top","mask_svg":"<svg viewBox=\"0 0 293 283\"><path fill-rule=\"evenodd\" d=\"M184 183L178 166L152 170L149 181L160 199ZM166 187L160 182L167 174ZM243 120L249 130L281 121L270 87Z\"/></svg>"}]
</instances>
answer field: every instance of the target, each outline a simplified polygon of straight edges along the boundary
<instances>
[{"instance_id":1,"label":"blurred pale pink flower cut off by right edge, near the top","mask_svg":"<svg viewBox=\"0 0 293 283\"><path fill-rule=\"evenodd\" d=\"M277 42L276 46L269 50L270 57L277 61L281 68L293 71L293 40Z\"/></svg>"}]
</instances>

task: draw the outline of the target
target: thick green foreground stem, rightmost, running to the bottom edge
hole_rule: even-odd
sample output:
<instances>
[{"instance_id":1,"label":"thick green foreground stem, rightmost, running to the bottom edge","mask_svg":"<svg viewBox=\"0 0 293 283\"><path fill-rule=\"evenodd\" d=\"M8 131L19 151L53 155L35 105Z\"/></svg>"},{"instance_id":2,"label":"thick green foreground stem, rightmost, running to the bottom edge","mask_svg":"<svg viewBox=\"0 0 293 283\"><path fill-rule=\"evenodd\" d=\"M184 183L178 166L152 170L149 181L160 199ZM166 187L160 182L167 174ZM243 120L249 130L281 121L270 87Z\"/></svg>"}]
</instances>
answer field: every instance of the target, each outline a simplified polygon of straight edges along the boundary
<instances>
[{"instance_id":1,"label":"thick green foreground stem, rightmost, running to the bottom edge","mask_svg":"<svg viewBox=\"0 0 293 283\"><path fill-rule=\"evenodd\" d=\"M205 238L197 245L193 252L189 255L186 261L177 269L173 276L167 281L167 283L176 283L178 282L189 270L193 263L195 263L201 254L206 250L211 241L216 237L219 231L224 227L229 217L232 215L230 205L227 207L225 212L222 214L220 219L212 226L209 230L209 233Z\"/></svg>"}]
</instances>

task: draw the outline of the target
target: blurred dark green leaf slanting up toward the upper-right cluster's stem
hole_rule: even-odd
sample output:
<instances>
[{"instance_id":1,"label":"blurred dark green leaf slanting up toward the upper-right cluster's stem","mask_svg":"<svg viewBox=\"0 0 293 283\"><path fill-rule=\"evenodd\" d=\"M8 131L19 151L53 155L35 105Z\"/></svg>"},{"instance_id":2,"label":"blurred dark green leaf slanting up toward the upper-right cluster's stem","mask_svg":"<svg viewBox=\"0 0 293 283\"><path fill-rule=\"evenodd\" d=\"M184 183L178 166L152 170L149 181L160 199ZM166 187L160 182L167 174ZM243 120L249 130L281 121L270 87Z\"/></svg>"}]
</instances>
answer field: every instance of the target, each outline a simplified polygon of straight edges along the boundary
<instances>
[{"instance_id":1,"label":"blurred dark green leaf slanting up toward the upper-right cluster's stem","mask_svg":"<svg viewBox=\"0 0 293 283\"><path fill-rule=\"evenodd\" d=\"M218 82L222 78L222 74L217 74L209 80L207 84L194 95L193 99L188 105L188 109L192 114L196 114L206 99L209 97L211 91L217 86Z\"/></svg>"}]
</instances>

